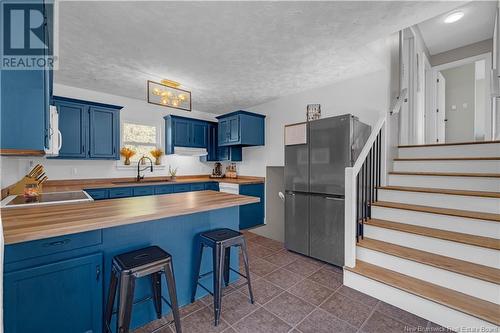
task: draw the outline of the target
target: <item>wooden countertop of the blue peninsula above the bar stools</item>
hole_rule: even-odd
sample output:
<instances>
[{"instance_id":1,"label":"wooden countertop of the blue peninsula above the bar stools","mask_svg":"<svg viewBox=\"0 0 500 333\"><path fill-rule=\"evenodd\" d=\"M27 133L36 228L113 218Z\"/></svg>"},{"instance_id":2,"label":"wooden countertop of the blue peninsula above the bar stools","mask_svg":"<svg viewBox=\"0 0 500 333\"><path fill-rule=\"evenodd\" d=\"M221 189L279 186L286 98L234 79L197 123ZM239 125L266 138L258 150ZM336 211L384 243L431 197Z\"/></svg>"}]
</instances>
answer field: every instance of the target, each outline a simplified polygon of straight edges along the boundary
<instances>
[{"instance_id":1,"label":"wooden countertop of the blue peninsula above the bar stools","mask_svg":"<svg viewBox=\"0 0 500 333\"><path fill-rule=\"evenodd\" d=\"M259 202L259 198L198 191L2 209L5 244L146 222Z\"/></svg>"}]
</instances>

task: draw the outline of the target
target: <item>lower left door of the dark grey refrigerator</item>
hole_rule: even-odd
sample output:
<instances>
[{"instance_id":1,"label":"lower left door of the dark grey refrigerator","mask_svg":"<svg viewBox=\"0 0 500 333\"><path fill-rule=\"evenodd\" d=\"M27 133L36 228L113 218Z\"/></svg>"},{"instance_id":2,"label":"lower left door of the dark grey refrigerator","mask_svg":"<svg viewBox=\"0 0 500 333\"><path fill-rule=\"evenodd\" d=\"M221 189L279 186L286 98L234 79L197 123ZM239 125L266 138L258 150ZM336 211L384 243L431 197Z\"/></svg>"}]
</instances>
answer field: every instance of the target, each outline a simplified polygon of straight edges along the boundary
<instances>
[{"instance_id":1,"label":"lower left door of the dark grey refrigerator","mask_svg":"<svg viewBox=\"0 0 500 333\"><path fill-rule=\"evenodd\" d=\"M285 193L285 248L309 255L309 194Z\"/></svg>"}]
</instances>

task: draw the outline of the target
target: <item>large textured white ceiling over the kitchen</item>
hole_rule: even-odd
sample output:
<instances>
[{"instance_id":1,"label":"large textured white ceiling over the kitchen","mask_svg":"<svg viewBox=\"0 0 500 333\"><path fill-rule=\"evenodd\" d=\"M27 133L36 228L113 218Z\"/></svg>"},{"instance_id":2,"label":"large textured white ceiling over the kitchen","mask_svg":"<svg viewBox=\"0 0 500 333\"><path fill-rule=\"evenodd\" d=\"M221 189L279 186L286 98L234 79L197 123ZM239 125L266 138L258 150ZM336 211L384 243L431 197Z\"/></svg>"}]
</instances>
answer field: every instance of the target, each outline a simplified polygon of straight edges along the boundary
<instances>
[{"instance_id":1,"label":"large textured white ceiling over the kitchen","mask_svg":"<svg viewBox=\"0 0 500 333\"><path fill-rule=\"evenodd\" d=\"M55 81L145 99L168 78L223 113L378 70L370 42L458 5L64 1Z\"/></svg>"}]
</instances>

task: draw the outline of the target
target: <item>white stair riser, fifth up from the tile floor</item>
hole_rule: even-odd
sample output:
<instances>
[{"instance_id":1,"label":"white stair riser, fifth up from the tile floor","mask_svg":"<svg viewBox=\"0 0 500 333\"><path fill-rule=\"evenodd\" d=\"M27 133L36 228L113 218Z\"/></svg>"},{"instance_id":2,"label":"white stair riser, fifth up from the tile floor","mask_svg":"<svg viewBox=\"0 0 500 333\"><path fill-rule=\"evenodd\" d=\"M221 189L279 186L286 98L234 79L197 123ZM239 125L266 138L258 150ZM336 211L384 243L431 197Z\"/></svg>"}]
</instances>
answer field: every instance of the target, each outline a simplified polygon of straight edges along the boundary
<instances>
[{"instance_id":1,"label":"white stair riser, fifth up from the tile floor","mask_svg":"<svg viewBox=\"0 0 500 333\"><path fill-rule=\"evenodd\" d=\"M500 198L379 190L378 200L500 214Z\"/></svg>"}]
</instances>

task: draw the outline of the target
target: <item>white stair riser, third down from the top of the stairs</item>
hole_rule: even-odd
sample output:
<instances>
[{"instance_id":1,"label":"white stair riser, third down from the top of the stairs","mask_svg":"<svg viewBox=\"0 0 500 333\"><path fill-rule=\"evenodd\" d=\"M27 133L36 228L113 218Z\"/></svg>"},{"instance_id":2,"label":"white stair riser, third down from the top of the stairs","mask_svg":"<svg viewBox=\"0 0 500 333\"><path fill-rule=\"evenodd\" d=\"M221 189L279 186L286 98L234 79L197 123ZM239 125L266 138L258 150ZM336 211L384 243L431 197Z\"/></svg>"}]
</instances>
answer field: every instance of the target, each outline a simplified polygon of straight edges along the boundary
<instances>
[{"instance_id":1,"label":"white stair riser, third down from the top of the stairs","mask_svg":"<svg viewBox=\"0 0 500 333\"><path fill-rule=\"evenodd\" d=\"M389 175L389 185L498 192L500 178Z\"/></svg>"}]
</instances>

